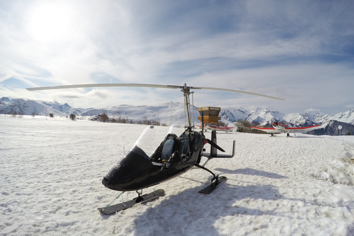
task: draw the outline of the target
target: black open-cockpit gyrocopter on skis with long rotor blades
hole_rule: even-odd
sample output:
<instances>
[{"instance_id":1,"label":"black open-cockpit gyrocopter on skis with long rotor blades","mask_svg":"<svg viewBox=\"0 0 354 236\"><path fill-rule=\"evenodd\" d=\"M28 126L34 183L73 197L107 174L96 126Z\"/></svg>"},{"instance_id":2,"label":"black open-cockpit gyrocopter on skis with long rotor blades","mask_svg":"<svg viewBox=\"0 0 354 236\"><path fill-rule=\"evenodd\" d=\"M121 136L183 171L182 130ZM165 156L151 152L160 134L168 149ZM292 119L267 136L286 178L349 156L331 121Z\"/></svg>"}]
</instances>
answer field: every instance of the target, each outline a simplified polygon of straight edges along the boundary
<instances>
[{"instance_id":1,"label":"black open-cockpit gyrocopter on skis with long rotor blades","mask_svg":"<svg viewBox=\"0 0 354 236\"><path fill-rule=\"evenodd\" d=\"M192 87L184 84L178 85L159 85L159 84L79 84L79 85L62 85L50 87L35 87L27 88L27 90L47 90L47 89L60 89L60 88L82 88L82 87L156 87L156 88L170 88L181 89L184 95L185 112L187 116L188 125L186 130L176 135L169 133L166 135L161 144L155 149L152 155L147 155L140 147L139 140L130 149L130 151L120 159L110 171L103 177L102 183L107 188L116 191L136 191L138 197L128 202L123 202L116 205L108 205L107 207L98 208L103 214L112 214L120 210L124 210L133 206L136 203L143 203L164 194L163 190L157 190L150 194L142 195L144 188L159 184L174 177L177 177L186 171L198 167L208 171L213 175L211 183L200 193L210 194L217 186L226 180L225 176L214 174L209 169L205 168L205 164L213 158L232 158L235 155L235 140L233 142L232 155L220 155L217 150L225 152L216 144L216 131L211 133L211 140L204 136L203 129L200 132L194 131L194 126L191 122L191 106L190 95L191 89L212 89L223 90L231 92L247 93L249 95L256 95L266 98L284 100L277 97L261 95L259 93L240 91L225 88L213 87ZM202 115L202 127L204 120ZM147 127L143 132L153 129L154 126ZM210 144L210 153L205 153L204 145ZM206 162L200 165L201 157L207 157ZM140 191L140 192L139 192Z\"/></svg>"}]
</instances>

